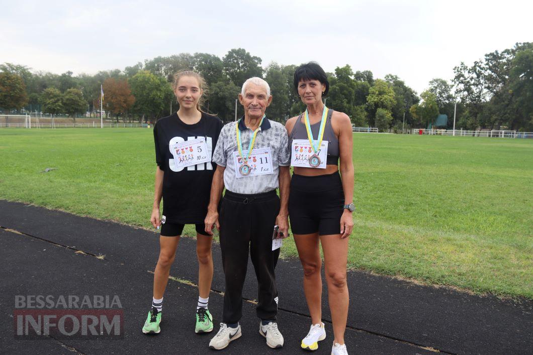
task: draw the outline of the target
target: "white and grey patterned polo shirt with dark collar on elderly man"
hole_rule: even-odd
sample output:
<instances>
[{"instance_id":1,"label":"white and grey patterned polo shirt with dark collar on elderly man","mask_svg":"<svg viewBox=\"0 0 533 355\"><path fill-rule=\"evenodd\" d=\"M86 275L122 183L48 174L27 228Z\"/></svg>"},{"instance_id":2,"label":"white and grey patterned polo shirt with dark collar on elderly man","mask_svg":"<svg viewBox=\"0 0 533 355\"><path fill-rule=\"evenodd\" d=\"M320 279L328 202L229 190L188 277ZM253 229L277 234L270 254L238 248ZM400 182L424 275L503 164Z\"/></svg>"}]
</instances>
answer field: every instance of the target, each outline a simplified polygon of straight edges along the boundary
<instances>
[{"instance_id":1,"label":"white and grey patterned polo shirt with dark collar on elderly man","mask_svg":"<svg viewBox=\"0 0 533 355\"><path fill-rule=\"evenodd\" d=\"M286 167L290 164L289 137L285 127L279 122L265 118L255 138L254 149L270 147L272 174L237 178L235 176L235 161L233 161L233 152L239 150L235 125L239 125L244 151L247 151L253 135L253 131L244 124L244 117L237 122L228 123L222 128L219 141L213 152L213 162L225 167L224 185L226 189L238 194L259 194L278 188L279 166Z\"/></svg>"}]
</instances>

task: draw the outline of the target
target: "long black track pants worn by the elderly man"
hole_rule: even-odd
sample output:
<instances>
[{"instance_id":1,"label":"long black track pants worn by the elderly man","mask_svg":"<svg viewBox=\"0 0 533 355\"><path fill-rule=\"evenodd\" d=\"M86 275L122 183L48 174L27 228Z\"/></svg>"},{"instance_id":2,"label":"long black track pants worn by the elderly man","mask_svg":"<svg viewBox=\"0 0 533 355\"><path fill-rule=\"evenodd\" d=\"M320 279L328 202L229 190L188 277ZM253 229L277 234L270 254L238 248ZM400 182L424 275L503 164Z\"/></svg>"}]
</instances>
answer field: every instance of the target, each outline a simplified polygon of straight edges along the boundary
<instances>
[{"instance_id":1,"label":"long black track pants worn by the elderly man","mask_svg":"<svg viewBox=\"0 0 533 355\"><path fill-rule=\"evenodd\" d=\"M272 232L279 213L276 191L243 195L226 191L220 206L220 249L226 281L224 323L237 323L242 316L243 285L252 259L259 284L257 317L276 320L278 290L274 269L279 249L272 251Z\"/></svg>"}]
</instances>

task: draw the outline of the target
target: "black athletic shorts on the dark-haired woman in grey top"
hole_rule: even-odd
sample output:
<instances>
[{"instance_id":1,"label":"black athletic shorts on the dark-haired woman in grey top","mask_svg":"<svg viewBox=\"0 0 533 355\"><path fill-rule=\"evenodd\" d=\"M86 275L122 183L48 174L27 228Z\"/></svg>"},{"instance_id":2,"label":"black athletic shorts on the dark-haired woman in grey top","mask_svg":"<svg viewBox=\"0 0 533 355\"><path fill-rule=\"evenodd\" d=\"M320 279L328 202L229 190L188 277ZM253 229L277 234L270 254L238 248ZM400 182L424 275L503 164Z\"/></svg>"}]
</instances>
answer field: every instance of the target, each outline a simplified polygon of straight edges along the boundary
<instances>
[{"instance_id":1,"label":"black athletic shorts on the dark-haired woman in grey top","mask_svg":"<svg viewBox=\"0 0 533 355\"><path fill-rule=\"evenodd\" d=\"M341 234L344 190L337 172L328 175L294 174L290 180L289 218L293 234Z\"/></svg>"}]
</instances>

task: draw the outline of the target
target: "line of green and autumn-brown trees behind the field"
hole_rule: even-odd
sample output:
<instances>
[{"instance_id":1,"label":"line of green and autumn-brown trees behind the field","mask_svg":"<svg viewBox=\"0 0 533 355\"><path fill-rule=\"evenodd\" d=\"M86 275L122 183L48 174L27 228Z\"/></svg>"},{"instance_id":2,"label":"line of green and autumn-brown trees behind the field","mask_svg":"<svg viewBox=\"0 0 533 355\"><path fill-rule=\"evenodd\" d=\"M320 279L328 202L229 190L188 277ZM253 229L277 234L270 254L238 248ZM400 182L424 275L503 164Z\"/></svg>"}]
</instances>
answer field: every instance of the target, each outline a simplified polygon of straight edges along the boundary
<instances>
[{"instance_id":1,"label":"line of green and autumn-brown trees behind the field","mask_svg":"<svg viewBox=\"0 0 533 355\"><path fill-rule=\"evenodd\" d=\"M42 111L76 114L103 108L112 118L132 122L154 121L177 110L172 80L179 70L194 70L207 81L204 110L230 121L243 82L264 78L274 97L269 116L284 122L304 109L294 93L297 65L272 62L265 69L260 57L243 48L231 49L222 58L208 53L158 56L124 70L99 71L95 75L56 75L31 71L23 65L0 65L0 108L4 111ZM440 114L451 128L457 103L456 128L533 130L533 44L517 43L502 52L486 54L469 67L454 68L448 82L435 78L418 95L396 75L374 78L372 71L353 71L350 65L328 73L330 90L326 105L348 114L358 127L401 131L402 127L426 127ZM237 115L243 114L237 105Z\"/></svg>"}]
</instances>

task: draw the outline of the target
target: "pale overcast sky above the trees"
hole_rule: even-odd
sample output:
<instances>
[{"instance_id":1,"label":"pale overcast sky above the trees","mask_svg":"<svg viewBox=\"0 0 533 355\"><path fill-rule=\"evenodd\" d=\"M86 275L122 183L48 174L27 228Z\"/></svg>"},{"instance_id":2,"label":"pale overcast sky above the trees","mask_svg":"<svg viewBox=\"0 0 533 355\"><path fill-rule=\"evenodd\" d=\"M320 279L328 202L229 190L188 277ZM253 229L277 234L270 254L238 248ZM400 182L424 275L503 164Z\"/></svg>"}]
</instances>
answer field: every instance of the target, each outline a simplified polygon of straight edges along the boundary
<instances>
[{"instance_id":1,"label":"pale overcast sky above the trees","mask_svg":"<svg viewBox=\"0 0 533 355\"><path fill-rule=\"evenodd\" d=\"M93 74L182 52L350 64L418 93L461 61L533 41L529 1L0 0L0 63Z\"/></svg>"}]
</instances>

